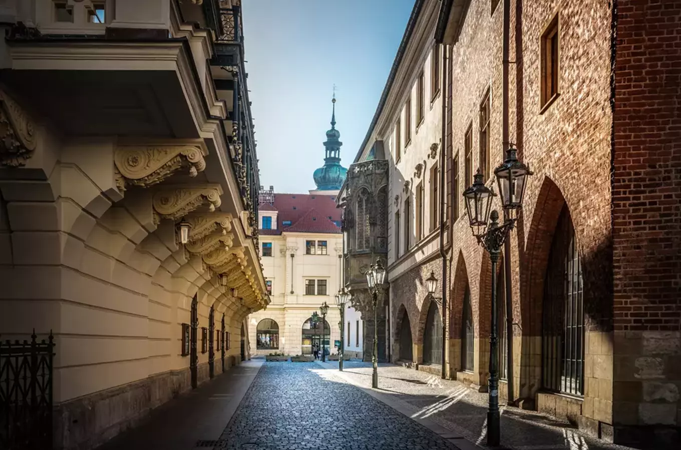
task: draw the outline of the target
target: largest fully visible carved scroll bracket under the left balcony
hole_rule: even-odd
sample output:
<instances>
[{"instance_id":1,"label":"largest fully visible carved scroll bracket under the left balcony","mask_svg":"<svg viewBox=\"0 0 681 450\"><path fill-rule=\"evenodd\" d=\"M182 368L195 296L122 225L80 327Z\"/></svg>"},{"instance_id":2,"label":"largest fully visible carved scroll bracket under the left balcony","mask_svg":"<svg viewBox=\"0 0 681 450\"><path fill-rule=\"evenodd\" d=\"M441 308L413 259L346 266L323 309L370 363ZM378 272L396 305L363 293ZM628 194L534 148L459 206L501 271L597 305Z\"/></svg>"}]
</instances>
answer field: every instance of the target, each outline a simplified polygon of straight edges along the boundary
<instances>
[{"instance_id":1,"label":"largest fully visible carved scroll bracket under the left balcony","mask_svg":"<svg viewBox=\"0 0 681 450\"><path fill-rule=\"evenodd\" d=\"M189 176L206 169L204 156L208 152L199 145L125 145L116 148L114 163L118 190L125 190L126 184L153 186L170 177L183 167L189 169Z\"/></svg>"}]
</instances>

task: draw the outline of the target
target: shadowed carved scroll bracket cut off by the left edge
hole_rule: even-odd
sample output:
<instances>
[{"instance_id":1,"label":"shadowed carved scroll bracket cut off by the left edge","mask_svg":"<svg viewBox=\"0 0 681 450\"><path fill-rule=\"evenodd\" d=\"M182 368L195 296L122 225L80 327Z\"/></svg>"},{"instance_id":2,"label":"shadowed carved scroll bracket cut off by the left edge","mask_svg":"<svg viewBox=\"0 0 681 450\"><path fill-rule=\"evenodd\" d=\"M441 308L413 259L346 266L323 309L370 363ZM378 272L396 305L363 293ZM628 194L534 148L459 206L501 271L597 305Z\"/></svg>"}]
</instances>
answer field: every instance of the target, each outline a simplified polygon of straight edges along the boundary
<instances>
[{"instance_id":1,"label":"shadowed carved scroll bracket cut off by the left edge","mask_svg":"<svg viewBox=\"0 0 681 450\"><path fill-rule=\"evenodd\" d=\"M35 134L31 118L0 91L0 165L25 166L35 150Z\"/></svg>"}]
</instances>

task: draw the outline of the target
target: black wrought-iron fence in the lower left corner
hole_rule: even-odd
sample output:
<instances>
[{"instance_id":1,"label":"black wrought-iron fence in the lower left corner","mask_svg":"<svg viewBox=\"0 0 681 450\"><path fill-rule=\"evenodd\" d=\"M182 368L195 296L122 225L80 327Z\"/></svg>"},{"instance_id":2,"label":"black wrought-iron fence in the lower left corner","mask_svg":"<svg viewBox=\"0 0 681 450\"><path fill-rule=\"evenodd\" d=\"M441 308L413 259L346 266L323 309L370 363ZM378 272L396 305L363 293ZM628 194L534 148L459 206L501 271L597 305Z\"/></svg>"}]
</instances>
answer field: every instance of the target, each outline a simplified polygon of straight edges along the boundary
<instances>
[{"instance_id":1,"label":"black wrought-iron fence in the lower left corner","mask_svg":"<svg viewBox=\"0 0 681 450\"><path fill-rule=\"evenodd\" d=\"M0 341L0 449L52 449L54 337Z\"/></svg>"}]
</instances>

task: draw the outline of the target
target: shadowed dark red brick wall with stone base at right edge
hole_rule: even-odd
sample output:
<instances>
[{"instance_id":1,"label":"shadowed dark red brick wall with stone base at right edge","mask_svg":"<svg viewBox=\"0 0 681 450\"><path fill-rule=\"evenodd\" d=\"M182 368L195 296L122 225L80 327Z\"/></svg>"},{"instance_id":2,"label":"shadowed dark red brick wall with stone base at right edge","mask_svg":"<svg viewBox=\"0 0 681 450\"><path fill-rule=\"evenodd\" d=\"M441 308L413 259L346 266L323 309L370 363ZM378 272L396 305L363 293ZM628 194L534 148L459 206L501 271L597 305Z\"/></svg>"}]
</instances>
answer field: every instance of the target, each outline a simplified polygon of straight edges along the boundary
<instances>
[{"instance_id":1,"label":"shadowed dark red brick wall with stone base at right edge","mask_svg":"<svg viewBox=\"0 0 681 450\"><path fill-rule=\"evenodd\" d=\"M681 1L616 5L614 431L680 445Z\"/></svg>"}]
</instances>

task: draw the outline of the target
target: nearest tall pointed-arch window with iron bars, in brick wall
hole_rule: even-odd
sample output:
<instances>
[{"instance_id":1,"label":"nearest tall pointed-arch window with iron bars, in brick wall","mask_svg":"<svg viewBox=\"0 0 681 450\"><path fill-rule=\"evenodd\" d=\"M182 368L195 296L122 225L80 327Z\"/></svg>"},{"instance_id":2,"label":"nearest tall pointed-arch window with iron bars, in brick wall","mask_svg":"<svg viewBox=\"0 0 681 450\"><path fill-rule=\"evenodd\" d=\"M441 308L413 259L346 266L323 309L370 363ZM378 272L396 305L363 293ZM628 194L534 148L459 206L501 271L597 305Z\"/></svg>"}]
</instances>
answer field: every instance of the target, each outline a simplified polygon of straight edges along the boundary
<instances>
[{"instance_id":1,"label":"nearest tall pointed-arch window with iron bars, in brick wall","mask_svg":"<svg viewBox=\"0 0 681 450\"><path fill-rule=\"evenodd\" d=\"M584 298L582 263L567 205L556 224L544 281L542 385L584 394Z\"/></svg>"}]
</instances>

